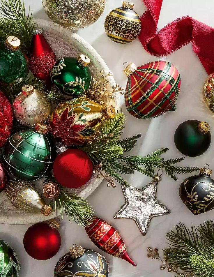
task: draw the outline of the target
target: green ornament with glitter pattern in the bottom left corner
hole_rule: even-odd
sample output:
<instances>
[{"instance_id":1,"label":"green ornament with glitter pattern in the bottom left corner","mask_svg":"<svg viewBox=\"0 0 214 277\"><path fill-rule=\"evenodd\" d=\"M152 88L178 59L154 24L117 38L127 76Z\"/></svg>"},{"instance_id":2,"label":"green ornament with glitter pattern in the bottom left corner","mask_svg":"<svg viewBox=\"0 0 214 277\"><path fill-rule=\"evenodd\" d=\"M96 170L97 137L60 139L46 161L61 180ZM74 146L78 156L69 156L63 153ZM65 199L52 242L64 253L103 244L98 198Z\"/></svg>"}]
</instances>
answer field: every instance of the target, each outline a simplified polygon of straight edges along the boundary
<instances>
[{"instance_id":1,"label":"green ornament with glitter pattern in the bottom left corner","mask_svg":"<svg viewBox=\"0 0 214 277\"><path fill-rule=\"evenodd\" d=\"M0 277L18 277L19 269L15 250L0 239Z\"/></svg>"}]
</instances>

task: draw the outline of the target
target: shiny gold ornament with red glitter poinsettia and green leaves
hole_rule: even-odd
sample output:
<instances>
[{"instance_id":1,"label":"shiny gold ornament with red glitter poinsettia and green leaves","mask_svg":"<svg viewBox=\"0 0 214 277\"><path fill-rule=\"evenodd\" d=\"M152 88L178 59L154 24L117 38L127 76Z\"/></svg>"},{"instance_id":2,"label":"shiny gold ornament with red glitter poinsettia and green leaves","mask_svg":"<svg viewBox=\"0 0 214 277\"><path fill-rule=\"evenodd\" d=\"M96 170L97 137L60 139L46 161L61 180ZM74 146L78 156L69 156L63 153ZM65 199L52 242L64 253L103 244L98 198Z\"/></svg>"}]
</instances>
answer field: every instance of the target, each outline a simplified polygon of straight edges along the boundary
<instances>
[{"instance_id":1,"label":"shiny gold ornament with red glitter poinsettia and green leaves","mask_svg":"<svg viewBox=\"0 0 214 277\"><path fill-rule=\"evenodd\" d=\"M83 145L93 140L96 124L105 119L112 119L116 110L112 105L102 106L85 97L74 98L61 102L49 117L50 132L54 137L60 137L67 145Z\"/></svg>"}]
</instances>

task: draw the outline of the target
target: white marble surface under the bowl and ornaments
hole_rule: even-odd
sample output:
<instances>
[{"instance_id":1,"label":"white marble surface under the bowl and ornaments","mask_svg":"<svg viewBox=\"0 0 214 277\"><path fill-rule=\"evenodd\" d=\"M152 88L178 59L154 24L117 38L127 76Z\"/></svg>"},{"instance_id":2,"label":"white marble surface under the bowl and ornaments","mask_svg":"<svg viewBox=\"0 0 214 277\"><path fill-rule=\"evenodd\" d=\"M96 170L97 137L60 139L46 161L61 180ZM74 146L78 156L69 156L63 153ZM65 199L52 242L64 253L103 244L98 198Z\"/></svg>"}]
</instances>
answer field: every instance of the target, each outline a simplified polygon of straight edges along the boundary
<instances>
[{"instance_id":1,"label":"white marble surface under the bowl and ornaments","mask_svg":"<svg viewBox=\"0 0 214 277\"><path fill-rule=\"evenodd\" d=\"M34 17L48 19L43 11L40 0L24 0L24 2L26 6L30 4ZM135 0L134 2L135 11L142 14L145 11L143 2L141 0ZM212 0L164 0L163 2L158 28L162 28L168 22L185 15L190 15L214 27L214 4ZM119 6L121 6L121 0L107 0L105 11L100 19L92 26L77 31L77 33L99 52L114 73L116 82L125 87L126 77L122 73L124 61L141 65L156 58L148 54L138 40L128 45L119 45L107 38L104 31L105 16L113 8ZM213 45L210 47L213 47ZM211 134L214 134L213 116L207 110L201 94L207 74L199 59L192 51L191 43L164 59L173 63L181 74L182 86L176 103L176 112L168 112L156 119L141 121L126 112L123 98L121 97L122 110L127 115L127 124L123 137L142 133L141 139L139 139L137 146L131 153L133 155L145 155L159 147L169 147L170 151L168 151L165 157L181 156L174 146L174 131L181 122L188 119L208 121L211 125ZM209 163L212 169L213 150L214 145L211 144L209 150L204 155L197 158L185 158L185 161L181 164L201 167ZM157 198L171 209L171 214L153 218L146 237L141 235L133 220L116 220L113 218L114 214L124 204L124 197L119 185L116 189L112 189L107 188L106 183L103 182L88 198L97 215L112 223L119 230L130 256L137 263L137 267L133 267L122 259L102 253L109 261L109 277L165 277L174 275L167 271L160 271L160 263L157 260L151 260L146 257L146 248L148 246L160 249L165 248L167 246L165 233L179 221L190 225L191 222L199 224L205 219L213 218L212 211L194 216L181 202L178 188L186 176L180 175L177 183L169 177L163 176L163 180L158 185ZM132 186L136 187L142 187L151 180L138 173L128 176L126 179ZM0 225L0 237L12 244L17 251L21 264L20 277L38 277L38 275L41 277L52 277L56 262L69 250L73 243L97 250L82 227L77 226L75 223L69 223L65 219L60 229L62 245L59 253L48 261L37 261L29 257L23 248L22 239L28 227L29 225Z\"/></svg>"}]
</instances>

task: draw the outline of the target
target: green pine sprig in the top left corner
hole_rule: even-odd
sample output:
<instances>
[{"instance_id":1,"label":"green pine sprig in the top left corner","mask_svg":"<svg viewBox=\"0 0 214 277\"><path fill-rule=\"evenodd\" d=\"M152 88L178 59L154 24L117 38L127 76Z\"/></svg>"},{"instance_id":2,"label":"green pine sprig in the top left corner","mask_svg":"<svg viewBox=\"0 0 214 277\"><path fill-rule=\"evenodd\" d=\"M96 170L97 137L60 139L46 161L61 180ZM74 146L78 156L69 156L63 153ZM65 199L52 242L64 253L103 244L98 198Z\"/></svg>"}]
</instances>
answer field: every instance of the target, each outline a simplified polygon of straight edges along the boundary
<instances>
[{"instance_id":1,"label":"green pine sprig in the top left corner","mask_svg":"<svg viewBox=\"0 0 214 277\"><path fill-rule=\"evenodd\" d=\"M21 0L1 0L0 3L0 41L4 42L8 36L17 36L22 46L29 49L34 25L31 21L32 11L29 8L26 15L24 2Z\"/></svg>"}]
</instances>

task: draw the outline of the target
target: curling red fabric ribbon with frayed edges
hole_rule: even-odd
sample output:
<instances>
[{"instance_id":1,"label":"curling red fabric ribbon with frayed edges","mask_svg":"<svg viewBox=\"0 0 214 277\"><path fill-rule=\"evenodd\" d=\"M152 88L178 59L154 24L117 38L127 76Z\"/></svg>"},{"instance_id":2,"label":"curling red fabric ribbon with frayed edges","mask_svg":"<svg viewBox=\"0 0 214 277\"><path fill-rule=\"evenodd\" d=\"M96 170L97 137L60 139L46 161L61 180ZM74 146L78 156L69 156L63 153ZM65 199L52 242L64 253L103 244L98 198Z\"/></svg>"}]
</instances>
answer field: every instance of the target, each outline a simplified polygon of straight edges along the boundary
<instances>
[{"instance_id":1,"label":"curling red fabric ribbon with frayed edges","mask_svg":"<svg viewBox=\"0 0 214 277\"><path fill-rule=\"evenodd\" d=\"M163 0L142 0L147 8L141 16L142 31L139 40L145 50L155 56L167 56L192 41L192 48L198 55L208 74L214 72L214 29L186 16L157 30Z\"/></svg>"}]
</instances>

